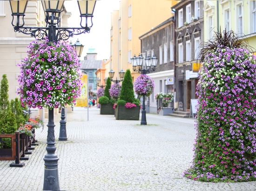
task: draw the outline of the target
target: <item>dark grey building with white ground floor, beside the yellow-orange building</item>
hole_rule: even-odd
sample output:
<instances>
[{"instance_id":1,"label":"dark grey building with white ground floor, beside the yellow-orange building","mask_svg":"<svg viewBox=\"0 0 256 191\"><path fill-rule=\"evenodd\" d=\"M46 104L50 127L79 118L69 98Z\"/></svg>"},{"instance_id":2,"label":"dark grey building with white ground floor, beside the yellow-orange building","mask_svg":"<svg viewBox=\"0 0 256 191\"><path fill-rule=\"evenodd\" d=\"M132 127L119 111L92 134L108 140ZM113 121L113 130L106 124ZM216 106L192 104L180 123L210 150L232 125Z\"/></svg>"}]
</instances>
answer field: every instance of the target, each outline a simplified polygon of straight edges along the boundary
<instances>
[{"instance_id":1,"label":"dark grey building with white ground floor, beside the yellow-orange building","mask_svg":"<svg viewBox=\"0 0 256 191\"><path fill-rule=\"evenodd\" d=\"M146 58L158 55L158 63L153 73L154 92L147 98L150 113L157 112L155 94L159 92L174 94L174 16L165 20L154 29L141 35L141 56Z\"/></svg>"}]
</instances>

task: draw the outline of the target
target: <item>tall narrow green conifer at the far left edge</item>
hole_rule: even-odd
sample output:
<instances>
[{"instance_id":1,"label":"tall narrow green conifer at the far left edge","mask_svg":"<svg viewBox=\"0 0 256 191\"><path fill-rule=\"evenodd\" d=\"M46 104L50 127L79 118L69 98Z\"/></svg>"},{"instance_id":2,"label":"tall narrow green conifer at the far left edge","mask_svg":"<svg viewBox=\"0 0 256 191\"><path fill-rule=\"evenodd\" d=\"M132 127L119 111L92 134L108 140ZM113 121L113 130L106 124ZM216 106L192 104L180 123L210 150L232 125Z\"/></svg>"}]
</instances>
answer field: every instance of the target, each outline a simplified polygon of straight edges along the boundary
<instances>
[{"instance_id":1,"label":"tall narrow green conifer at the far left edge","mask_svg":"<svg viewBox=\"0 0 256 191\"><path fill-rule=\"evenodd\" d=\"M7 75L4 74L2 76L1 85L0 85L0 112L5 112L7 108L9 107L9 101L8 101L8 80Z\"/></svg>"}]
</instances>

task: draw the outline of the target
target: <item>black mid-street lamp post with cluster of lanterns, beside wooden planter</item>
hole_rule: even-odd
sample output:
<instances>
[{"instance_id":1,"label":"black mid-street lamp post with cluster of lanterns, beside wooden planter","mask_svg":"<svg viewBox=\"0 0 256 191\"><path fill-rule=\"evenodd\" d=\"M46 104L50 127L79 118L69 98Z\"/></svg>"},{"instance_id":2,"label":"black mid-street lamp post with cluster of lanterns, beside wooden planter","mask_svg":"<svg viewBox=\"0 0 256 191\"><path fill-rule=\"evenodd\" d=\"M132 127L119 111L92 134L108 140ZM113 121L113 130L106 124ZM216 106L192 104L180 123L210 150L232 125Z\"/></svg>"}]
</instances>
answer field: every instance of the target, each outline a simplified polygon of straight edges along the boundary
<instances>
[{"instance_id":1,"label":"black mid-street lamp post with cluster of lanterns, beside wooden planter","mask_svg":"<svg viewBox=\"0 0 256 191\"><path fill-rule=\"evenodd\" d=\"M133 70L141 74L148 74L152 71L155 71L157 60L158 59L157 57L155 57L155 55L153 55L153 57L148 56L147 58L145 58L145 63L143 64L143 57L141 57L141 54L139 54L138 57L134 55L134 57L131 58ZM143 95L142 101L141 125L147 125L145 95Z\"/></svg>"}]
</instances>

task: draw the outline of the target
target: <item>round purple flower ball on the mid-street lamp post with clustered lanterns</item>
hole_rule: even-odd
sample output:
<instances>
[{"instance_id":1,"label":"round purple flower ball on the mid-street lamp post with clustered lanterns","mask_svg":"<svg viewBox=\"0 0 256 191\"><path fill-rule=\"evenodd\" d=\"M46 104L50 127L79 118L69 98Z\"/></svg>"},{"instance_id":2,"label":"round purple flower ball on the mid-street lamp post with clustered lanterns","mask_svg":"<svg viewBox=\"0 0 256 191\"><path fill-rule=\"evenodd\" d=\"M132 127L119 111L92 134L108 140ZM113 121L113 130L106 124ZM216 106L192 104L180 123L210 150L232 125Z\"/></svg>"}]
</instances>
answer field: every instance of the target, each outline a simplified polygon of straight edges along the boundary
<instances>
[{"instance_id":1,"label":"round purple flower ball on the mid-street lamp post with clustered lanterns","mask_svg":"<svg viewBox=\"0 0 256 191\"><path fill-rule=\"evenodd\" d=\"M139 96L150 96L153 93L154 88L154 80L146 74L141 74L134 82L135 93Z\"/></svg>"}]
</instances>

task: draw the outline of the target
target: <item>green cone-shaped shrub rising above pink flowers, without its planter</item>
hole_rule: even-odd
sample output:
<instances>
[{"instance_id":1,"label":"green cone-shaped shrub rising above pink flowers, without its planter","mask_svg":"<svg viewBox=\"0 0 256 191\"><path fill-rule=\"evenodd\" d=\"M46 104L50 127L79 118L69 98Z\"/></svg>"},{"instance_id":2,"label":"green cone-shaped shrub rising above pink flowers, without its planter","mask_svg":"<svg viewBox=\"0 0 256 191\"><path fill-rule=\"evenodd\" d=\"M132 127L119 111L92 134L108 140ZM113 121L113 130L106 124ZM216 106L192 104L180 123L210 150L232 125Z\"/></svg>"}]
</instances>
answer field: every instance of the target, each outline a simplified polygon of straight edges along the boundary
<instances>
[{"instance_id":1,"label":"green cone-shaped shrub rising above pink flowers, without its planter","mask_svg":"<svg viewBox=\"0 0 256 191\"><path fill-rule=\"evenodd\" d=\"M126 102L131 102L131 103L135 101L133 81L132 81L132 76L129 69L126 70L123 81L122 81L120 100L124 100Z\"/></svg>"}]
</instances>

